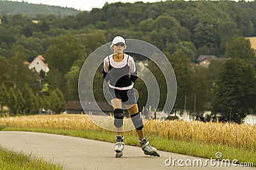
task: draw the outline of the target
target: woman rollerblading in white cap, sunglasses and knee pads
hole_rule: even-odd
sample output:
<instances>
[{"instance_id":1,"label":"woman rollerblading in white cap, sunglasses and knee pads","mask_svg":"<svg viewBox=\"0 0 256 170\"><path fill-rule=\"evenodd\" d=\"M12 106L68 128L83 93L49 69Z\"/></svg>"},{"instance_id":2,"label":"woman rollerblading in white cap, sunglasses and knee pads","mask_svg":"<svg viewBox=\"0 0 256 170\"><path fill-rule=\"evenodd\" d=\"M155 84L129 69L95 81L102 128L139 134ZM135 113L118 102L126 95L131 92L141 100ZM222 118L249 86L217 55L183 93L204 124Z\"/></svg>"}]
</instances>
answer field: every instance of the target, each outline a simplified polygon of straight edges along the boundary
<instances>
[{"instance_id":1,"label":"woman rollerblading in white cap, sunglasses and knee pads","mask_svg":"<svg viewBox=\"0 0 256 170\"><path fill-rule=\"evenodd\" d=\"M123 53L126 45L121 36L116 36L110 48L113 54L104 59L104 68L102 76L108 82L111 105L114 110L114 125L116 127L116 157L122 157L124 149L124 138L122 136L122 126L124 119L124 110L128 111L132 123L140 139L141 148L146 155L159 157L156 148L150 146L143 132L143 121L140 117L138 105L136 104L133 85L138 78L137 70L133 58Z\"/></svg>"}]
</instances>

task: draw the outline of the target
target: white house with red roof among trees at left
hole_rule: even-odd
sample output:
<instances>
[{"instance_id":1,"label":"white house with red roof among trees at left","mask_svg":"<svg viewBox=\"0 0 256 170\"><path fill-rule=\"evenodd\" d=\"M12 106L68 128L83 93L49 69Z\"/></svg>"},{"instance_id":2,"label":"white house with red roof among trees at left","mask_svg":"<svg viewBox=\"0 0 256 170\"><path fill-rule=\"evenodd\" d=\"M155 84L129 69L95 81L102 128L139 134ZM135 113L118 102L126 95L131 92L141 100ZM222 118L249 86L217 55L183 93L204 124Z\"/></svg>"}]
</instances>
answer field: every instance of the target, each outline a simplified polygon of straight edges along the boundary
<instances>
[{"instance_id":1,"label":"white house with red roof among trees at left","mask_svg":"<svg viewBox=\"0 0 256 170\"><path fill-rule=\"evenodd\" d=\"M45 59L42 55L38 55L30 64L29 69L34 69L37 73L44 71L45 73L49 72L48 64L45 62Z\"/></svg>"}]
</instances>

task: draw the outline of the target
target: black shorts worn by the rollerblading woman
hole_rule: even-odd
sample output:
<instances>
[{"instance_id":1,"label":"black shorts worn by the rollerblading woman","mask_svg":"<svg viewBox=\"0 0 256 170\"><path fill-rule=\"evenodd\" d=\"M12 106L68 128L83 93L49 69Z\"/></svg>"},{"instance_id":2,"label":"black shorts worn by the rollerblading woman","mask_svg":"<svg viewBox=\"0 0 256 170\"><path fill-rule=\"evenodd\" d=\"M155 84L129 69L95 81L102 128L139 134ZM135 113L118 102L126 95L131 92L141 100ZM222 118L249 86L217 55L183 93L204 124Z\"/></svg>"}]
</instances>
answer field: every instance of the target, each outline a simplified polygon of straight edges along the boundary
<instances>
[{"instance_id":1,"label":"black shorts worn by the rollerblading woman","mask_svg":"<svg viewBox=\"0 0 256 170\"><path fill-rule=\"evenodd\" d=\"M109 94L111 99L121 99L122 104L136 104L134 89L117 90L109 87Z\"/></svg>"}]
</instances>

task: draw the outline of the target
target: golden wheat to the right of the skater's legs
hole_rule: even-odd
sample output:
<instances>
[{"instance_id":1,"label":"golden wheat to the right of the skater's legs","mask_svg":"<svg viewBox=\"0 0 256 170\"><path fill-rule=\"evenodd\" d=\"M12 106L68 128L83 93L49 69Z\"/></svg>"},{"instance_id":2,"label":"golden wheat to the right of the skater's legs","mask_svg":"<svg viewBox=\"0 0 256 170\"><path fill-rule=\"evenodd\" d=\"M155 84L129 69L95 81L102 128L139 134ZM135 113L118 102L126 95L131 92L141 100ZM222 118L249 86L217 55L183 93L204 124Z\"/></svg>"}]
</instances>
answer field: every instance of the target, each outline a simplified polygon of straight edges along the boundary
<instances>
[{"instance_id":1,"label":"golden wheat to the right of the skater's legs","mask_svg":"<svg viewBox=\"0 0 256 170\"><path fill-rule=\"evenodd\" d=\"M181 141L227 145L253 152L256 148L256 126L248 124L180 120L159 123L157 120L150 120L145 125L145 133Z\"/></svg>"}]
</instances>

